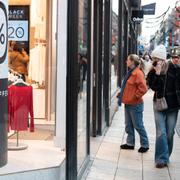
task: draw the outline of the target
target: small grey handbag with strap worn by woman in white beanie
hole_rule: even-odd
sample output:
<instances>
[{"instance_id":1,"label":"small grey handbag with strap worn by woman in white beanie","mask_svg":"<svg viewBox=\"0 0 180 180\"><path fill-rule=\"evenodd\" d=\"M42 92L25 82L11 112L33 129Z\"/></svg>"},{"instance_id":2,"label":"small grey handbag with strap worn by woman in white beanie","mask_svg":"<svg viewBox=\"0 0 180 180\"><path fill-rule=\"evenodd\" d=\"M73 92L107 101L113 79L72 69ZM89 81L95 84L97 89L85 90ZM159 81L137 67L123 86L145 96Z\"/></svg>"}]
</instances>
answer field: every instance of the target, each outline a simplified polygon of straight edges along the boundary
<instances>
[{"instance_id":1,"label":"small grey handbag with strap worn by woman in white beanie","mask_svg":"<svg viewBox=\"0 0 180 180\"><path fill-rule=\"evenodd\" d=\"M167 75L165 77L165 83L164 83L164 90L163 90L163 97L162 98L157 98L157 93L156 93L156 101L154 101L154 109L156 109L157 111L164 111L166 109L168 109L168 105L165 99L165 87L166 87L166 78Z\"/></svg>"}]
</instances>

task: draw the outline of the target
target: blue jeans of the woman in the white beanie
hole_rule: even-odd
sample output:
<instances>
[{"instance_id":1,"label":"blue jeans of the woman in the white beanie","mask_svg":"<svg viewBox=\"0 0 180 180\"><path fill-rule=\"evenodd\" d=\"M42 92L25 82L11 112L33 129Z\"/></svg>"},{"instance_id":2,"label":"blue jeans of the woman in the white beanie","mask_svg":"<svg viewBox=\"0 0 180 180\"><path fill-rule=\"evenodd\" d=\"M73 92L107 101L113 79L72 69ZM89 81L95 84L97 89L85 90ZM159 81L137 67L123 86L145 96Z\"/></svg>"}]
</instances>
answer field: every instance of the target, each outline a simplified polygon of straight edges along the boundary
<instances>
[{"instance_id":1,"label":"blue jeans of the woman in the white beanie","mask_svg":"<svg viewBox=\"0 0 180 180\"><path fill-rule=\"evenodd\" d=\"M157 111L154 109L156 124L155 163L168 163L173 149L174 129L178 110Z\"/></svg>"}]
</instances>

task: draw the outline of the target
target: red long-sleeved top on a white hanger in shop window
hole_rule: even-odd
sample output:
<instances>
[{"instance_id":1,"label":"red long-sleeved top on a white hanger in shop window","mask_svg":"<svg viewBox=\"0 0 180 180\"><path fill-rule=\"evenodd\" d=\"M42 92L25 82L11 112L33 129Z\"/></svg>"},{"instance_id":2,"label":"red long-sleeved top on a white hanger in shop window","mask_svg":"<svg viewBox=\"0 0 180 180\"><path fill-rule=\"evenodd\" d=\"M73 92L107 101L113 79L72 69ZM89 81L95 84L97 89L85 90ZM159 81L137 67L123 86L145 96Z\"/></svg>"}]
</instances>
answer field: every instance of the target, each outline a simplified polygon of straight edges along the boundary
<instances>
[{"instance_id":1,"label":"red long-sleeved top on a white hanger in shop window","mask_svg":"<svg viewBox=\"0 0 180 180\"><path fill-rule=\"evenodd\" d=\"M30 115L30 121L29 121ZM8 126L12 130L34 131L32 86L18 79L8 88Z\"/></svg>"}]
</instances>

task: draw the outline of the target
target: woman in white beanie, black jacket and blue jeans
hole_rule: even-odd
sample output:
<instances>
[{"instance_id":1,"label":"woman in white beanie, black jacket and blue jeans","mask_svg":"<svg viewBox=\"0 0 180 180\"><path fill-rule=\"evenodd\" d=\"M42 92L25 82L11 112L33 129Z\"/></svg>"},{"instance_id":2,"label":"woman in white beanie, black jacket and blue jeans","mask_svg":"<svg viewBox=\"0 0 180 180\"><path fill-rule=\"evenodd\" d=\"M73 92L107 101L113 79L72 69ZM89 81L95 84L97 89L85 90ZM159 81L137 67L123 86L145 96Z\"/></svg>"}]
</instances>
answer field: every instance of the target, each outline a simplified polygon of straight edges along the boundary
<instances>
[{"instance_id":1,"label":"woman in white beanie, black jacket and blue jeans","mask_svg":"<svg viewBox=\"0 0 180 180\"><path fill-rule=\"evenodd\" d=\"M180 108L180 66L172 61L166 61L166 48L157 46L151 57L153 68L147 75L147 83L154 91L153 109L156 125L155 163L156 168L164 168L169 163L173 149L174 129ZM179 55L172 59L179 61ZM165 97L168 108L157 110L157 99Z\"/></svg>"}]
</instances>

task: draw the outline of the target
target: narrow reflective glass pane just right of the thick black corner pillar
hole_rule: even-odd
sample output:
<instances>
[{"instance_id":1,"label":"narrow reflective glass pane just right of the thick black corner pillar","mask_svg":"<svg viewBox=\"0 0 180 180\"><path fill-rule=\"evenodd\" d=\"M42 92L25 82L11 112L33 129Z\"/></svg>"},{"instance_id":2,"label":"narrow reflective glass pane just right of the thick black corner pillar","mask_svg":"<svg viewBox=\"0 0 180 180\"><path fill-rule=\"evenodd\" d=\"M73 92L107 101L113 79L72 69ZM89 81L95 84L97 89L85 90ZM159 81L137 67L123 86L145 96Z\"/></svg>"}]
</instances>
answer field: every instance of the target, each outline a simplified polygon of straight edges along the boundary
<instances>
[{"instance_id":1,"label":"narrow reflective glass pane just right of the thick black corner pillar","mask_svg":"<svg viewBox=\"0 0 180 180\"><path fill-rule=\"evenodd\" d=\"M78 169L87 155L87 0L79 0Z\"/></svg>"}]
</instances>

